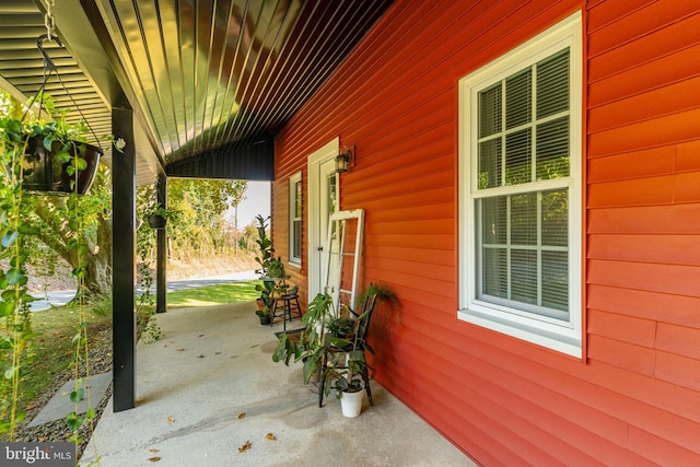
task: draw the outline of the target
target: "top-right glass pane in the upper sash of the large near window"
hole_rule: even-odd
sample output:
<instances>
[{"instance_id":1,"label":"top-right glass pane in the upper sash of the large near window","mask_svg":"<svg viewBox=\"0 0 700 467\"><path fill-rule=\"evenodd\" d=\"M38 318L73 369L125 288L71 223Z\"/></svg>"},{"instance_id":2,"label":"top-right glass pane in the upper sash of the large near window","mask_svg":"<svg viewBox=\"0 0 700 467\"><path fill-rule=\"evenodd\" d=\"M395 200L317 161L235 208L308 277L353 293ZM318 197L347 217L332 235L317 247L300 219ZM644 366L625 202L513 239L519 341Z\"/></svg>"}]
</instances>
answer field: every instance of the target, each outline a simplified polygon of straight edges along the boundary
<instances>
[{"instance_id":1,"label":"top-right glass pane in the upper sash of the large near window","mask_svg":"<svg viewBox=\"0 0 700 467\"><path fill-rule=\"evenodd\" d=\"M537 63L537 118L569 109L569 49Z\"/></svg>"}]
</instances>

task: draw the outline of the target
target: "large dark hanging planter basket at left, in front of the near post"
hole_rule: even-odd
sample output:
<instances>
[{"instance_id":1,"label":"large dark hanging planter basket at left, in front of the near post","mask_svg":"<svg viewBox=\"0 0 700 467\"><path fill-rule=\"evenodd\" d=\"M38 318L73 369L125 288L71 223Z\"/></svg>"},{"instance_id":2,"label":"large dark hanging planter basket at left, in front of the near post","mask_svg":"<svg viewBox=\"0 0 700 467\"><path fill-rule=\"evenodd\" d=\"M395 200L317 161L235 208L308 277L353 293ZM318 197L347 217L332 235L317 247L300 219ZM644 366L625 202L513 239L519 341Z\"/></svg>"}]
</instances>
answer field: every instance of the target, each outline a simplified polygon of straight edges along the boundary
<instances>
[{"instance_id":1,"label":"large dark hanging planter basket at left, in front of the near post","mask_svg":"<svg viewBox=\"0 0 700 467\"><path fill-rule=\"evenodd\" d=\"M69 151L78 152L80 157L88 163L85 170L79 171L77 178L75 175L69 175L67 173L67 168L71 163L61 163L58 157L56 157L56 154L60 150L61 143L58 141L54 141L51 151L49 151L44 147L43 137L37 136L28 139L23 163L24 189L37 192L67 195L73 192L71 182L77 180L78 186L75 187L75 192L79 195L88 192L95 178L102 150L88 143L74 141L70 143Z\"/></svg>"}]
</instances>

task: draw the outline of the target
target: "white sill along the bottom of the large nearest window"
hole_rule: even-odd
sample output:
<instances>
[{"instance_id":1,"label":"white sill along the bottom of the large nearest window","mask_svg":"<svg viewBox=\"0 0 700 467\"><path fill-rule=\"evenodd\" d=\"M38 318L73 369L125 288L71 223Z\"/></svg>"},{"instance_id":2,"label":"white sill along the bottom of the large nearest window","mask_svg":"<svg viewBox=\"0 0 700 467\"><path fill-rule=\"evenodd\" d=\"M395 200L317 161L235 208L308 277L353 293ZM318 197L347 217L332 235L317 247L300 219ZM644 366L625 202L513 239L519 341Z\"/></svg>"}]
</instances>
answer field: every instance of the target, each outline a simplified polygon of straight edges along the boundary
<instances>
[{"instance_id":1,"label":"white sill along the bottom of the large nearest window","mask_svg":"<svg viewBox=\"0 0 700 467\"><path fill-rule=\"evenodd\" d=\"M505 314L474 310L459 310L457 318L571 357L579 359L582 357L580 331L574 329L562 327L562 331L552 331L523 320L509 319ZM539 323L535 319L529 319L529 322ZM575 332L579 332L579 336Z\"/></svg>"}]
</instances>

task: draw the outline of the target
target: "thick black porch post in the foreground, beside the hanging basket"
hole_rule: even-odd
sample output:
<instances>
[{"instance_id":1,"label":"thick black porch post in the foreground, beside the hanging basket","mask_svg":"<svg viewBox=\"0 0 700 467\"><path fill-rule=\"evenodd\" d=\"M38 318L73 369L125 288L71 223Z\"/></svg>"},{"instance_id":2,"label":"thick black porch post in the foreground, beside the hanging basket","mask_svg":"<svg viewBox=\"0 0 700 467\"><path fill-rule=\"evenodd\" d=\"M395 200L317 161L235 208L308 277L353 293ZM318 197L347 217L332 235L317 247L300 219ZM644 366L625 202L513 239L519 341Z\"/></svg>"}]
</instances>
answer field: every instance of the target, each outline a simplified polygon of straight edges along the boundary
<instances>
[{"instance_id":1,"label":"thick black porch post in the foreground, beside the hanging basket","mask_svg":"<svg viewBox=\"0 0 700 467\"><path fill-rule=\"evenodd\" d=\"M114 411L136 406L136 142L133 110L112 109L112 131L126 142L113 150L113 362Z\"/></svg>"}]
</instances>

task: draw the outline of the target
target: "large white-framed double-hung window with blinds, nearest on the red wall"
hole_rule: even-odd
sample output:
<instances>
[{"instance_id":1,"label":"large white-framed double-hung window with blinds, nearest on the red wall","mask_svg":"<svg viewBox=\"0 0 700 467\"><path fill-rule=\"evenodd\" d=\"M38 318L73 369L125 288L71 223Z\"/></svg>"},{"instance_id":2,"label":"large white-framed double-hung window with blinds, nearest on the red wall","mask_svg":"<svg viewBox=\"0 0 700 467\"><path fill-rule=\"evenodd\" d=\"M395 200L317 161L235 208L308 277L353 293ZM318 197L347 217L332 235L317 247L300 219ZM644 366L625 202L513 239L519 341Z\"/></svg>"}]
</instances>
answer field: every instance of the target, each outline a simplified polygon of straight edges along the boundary
<instances>
[{"instance_id":1,"label":"large white-framed double-hung window with blinds, nearest on the red wall","mask_svg":"<svg viewBox=\"0 0 700 467\"><path fill-rule=\"evenodd\" d=\"M459 82L459 317L581 355L581 15Z\"/></svg>"}]
</instances>

